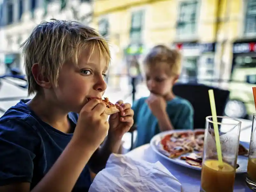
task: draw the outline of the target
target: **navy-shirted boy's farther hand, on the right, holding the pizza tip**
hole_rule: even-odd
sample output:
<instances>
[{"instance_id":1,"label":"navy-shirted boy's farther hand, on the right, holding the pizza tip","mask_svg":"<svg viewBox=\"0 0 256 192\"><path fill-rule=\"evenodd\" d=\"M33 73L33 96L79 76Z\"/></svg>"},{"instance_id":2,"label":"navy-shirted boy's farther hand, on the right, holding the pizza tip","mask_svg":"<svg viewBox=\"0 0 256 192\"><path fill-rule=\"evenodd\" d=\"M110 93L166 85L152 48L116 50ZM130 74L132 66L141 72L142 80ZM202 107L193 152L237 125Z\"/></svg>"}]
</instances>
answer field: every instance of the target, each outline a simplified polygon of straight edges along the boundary
<instances>
[{"instance_id":1,"label":"navy-shirted boy's farther hand, on the right, holding the pizza tip","mask_svg":"<svg viewBox=\"0 0 256 192\"><path fill-rule=\"evenodd\" d=\"M128 132L133 125L133 110L130 103L124 103L122 100L117 101L116 106L120 112L112 114L109 117L108 136L116 140L122 139L124 133Z\"/></svg>"}]
</instances>

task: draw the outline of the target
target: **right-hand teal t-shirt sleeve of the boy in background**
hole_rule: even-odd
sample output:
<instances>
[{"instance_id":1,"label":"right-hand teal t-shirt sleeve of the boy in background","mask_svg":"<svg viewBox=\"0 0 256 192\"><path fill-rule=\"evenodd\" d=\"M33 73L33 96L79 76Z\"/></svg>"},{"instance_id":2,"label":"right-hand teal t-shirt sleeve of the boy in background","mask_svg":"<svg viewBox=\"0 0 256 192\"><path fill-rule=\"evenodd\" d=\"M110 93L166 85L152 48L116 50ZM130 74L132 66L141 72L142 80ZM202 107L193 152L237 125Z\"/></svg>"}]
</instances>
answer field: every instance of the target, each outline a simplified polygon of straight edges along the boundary
<instances>
[{"instance_id":1,"label":"right-hand teal t-shirt sleeve of the boy in background","mask_svg":"<svg viewBox=\"0 0 256 192\"><path fill-rule=\"evenodd\" d=\"M193 129L193 116L193 107L188 103L184 103L180 107L178 121L175 129Z\"/></svg>"}]
</instances>

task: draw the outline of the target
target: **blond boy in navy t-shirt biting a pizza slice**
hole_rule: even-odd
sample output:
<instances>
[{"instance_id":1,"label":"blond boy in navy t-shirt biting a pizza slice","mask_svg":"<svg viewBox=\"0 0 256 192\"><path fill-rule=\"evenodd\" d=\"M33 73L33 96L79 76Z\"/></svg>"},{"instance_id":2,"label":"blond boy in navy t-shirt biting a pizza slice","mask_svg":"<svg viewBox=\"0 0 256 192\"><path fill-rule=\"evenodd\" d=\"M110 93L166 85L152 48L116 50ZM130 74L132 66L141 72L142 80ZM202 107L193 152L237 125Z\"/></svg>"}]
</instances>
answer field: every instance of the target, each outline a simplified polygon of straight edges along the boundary
<instances>
[{"instance_id":1,"label":"blond boy in navy t-shirt biting a pizza slice","mask_svg":"<svg viewBox=\"0 0 256 192\"><path fill-rule=\"evenodd\" d=\"M90 27L52 20L38 25L22 48L28 94L35 97L0 118L0 191L88 191L90 170L105 167L133 124L130 104L118 101L120 112L107 120L100 100L108 44Z\"/></svg>"}]
</instances>

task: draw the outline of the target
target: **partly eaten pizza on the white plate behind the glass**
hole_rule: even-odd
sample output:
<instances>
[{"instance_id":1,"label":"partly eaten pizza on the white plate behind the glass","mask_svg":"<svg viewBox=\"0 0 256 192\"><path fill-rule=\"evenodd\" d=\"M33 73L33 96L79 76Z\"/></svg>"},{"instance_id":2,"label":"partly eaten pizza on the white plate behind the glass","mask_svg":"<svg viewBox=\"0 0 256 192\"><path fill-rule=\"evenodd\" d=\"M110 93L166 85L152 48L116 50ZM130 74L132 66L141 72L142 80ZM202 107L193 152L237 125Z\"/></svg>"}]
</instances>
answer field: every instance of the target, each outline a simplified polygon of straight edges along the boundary
<instances>
[{"instance_id":1,"label":"partly eaten pizza on the white plate behind the glass","mask_svg":"<svg viewBox=\"0 0 256 192\"><path fill-rule=\"evenodd\" d=\"M160 142L164 155L169 158L180 158L186 163L202 167L204 150L204 130L173 132L165 135ZM239 144L238 155L248 156L248 150ZM237 165L236 168L238 168Z\"/></svg>"}]
</instances>

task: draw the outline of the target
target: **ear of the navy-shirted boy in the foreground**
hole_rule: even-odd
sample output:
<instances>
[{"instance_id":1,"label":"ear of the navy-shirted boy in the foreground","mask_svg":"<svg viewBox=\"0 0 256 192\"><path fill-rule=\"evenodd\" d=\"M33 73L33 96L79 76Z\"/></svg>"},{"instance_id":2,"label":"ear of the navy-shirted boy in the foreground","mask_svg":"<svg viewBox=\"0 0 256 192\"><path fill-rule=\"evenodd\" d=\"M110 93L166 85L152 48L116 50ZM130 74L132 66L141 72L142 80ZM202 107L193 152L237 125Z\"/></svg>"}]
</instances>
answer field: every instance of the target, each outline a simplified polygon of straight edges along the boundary
<instances>
[{"instance_id":1,"label":"ear of the navy-shirted boy in the foreground","mask_svg":"<svg viewBox=\"0 0 256 192\"><path fill-rule=\"evenodd\" d=\"M31 71L38 85L46 89L50 89L52 87L50 80L41 74L38 63L33 64Z\"/></svg>"}]
</instances>

